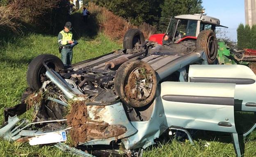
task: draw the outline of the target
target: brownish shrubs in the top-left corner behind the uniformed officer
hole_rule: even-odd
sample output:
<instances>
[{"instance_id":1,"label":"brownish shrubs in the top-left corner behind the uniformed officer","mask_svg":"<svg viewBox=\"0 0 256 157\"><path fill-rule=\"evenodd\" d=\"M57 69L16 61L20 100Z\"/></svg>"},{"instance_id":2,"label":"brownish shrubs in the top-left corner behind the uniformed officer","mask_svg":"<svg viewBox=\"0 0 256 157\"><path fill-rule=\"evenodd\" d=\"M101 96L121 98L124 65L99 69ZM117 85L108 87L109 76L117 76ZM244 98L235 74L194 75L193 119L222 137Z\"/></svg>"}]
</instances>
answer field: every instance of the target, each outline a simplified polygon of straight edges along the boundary
<instances>
[{"instance_id":1,"label":"brownish shrubs in the top-left corner behind the uniformed officer","mask_svg":"<svg viewBox=\"0 0 256 157\"><path fill-rule=\"evenodd\" d=\"M69 7L68 0L7 1L0 7L0 27L17 32L23 23L54 33L66 21Z\"/></svg>"}]
</instances>

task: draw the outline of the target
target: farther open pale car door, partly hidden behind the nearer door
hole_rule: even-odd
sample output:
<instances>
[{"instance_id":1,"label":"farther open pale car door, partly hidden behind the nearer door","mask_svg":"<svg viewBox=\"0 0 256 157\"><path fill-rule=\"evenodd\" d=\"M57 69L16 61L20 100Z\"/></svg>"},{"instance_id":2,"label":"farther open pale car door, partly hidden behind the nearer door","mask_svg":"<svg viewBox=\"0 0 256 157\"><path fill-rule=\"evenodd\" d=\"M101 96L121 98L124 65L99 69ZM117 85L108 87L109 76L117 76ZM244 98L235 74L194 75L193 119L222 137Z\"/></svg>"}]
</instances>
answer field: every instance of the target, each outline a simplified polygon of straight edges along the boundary
<instances>
[{"instance_id":1,"label":"farther open pale car door, partly hidden behind the nearer door","mask_svg":"<svg viewBox=\"0 0 256 157\"><path fill-rule=\"evenodd\" d=\"M189 82L235 84L235 111L256 112L256 75L244 65L190 65Z\"/></svg>"}]
</instances>

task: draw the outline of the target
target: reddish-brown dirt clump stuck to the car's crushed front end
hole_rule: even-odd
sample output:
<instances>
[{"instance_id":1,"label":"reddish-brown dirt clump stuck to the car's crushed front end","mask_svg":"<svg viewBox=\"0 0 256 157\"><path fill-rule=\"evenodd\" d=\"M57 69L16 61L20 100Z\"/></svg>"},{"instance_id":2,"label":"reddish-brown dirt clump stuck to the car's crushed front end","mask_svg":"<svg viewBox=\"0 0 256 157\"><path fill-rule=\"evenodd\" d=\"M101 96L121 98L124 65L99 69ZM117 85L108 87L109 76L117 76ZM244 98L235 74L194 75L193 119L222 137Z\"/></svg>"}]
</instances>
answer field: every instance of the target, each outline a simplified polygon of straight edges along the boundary
<instances>
[{"instance_id":1,"label":"reddish-brown dirt clump stuck to the car's crushed front end","mask_svg":"<svg viewBox=\"0 0 256 157\"><path fill-rule=\"evenodd\" d=\"M73 102L71 106L71 112L67 115L67 124L73 127L69 130L69 135L74 146L93 139L118 137L127 131L126 127L121 125L109 125L91 120L87 113L87 105L83 101Z\"/></svg>"}]
</instances>

